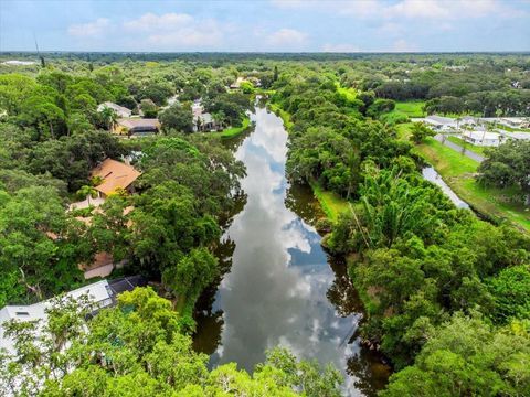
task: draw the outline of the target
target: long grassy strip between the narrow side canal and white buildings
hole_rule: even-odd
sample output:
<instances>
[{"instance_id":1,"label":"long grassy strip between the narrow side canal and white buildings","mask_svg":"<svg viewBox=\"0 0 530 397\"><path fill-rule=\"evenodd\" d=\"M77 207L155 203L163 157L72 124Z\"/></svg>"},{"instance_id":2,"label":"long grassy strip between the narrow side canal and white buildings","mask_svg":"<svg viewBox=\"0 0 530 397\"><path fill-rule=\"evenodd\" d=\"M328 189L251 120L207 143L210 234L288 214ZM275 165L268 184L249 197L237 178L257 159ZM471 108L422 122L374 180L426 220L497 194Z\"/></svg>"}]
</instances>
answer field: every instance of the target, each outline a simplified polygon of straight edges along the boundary
<instances>
[{"instance_id":1,"label":"long grassy strip between the narrow side canal and white buildings","mask_svg":"<svg viewBox=\"0 0 530 397\"><path fill-rule=\"evenodd\" d=\"M530 211L518 189L485 187L477 183L478 162L442 144L433 138L415 147L453 191L479 213L494 221L510 221L519 229L530 232Z\"/></svg>"}]
</instances>

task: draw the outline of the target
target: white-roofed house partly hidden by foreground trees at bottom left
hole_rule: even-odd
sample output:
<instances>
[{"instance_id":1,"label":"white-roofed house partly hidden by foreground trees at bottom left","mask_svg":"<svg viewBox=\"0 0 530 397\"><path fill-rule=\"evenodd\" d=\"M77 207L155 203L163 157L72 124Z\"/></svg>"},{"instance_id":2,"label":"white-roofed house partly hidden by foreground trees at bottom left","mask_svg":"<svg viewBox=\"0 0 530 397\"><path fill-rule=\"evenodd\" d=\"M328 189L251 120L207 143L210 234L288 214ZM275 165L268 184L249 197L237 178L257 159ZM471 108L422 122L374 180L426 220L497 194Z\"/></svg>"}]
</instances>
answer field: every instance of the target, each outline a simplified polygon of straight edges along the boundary
<instances>
[{"instance_id":1,"label":"white-roofed house partly hidden by foreground trees at bottom left","mask_svg":"<svg viewBox=\"0 0 530 397\"><path fill-rule=\"evenodd\" d=\"M100 280L34 304L2 308L0 395L25 396L31 388L30 395L36 396L45 382L59 380L73 371L76 361L67 358L68 350L74 341L85 340L91 319L115 305L121 292L144 286L141 276Z\"/></svg>"}]
</instances>

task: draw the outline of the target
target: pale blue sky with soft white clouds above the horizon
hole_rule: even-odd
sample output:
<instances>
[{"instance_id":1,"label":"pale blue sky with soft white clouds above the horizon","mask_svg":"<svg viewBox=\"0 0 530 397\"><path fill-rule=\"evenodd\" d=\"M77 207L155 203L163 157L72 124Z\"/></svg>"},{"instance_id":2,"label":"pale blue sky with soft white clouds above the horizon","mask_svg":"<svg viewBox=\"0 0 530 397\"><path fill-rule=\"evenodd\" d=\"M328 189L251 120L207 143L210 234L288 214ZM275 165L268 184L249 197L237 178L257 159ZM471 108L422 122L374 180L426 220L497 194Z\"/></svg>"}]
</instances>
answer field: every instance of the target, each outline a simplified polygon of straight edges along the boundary
<instances>
[{"instance_id":1,"label":"pale blue sky with soft white clouds above the horizon","mask_svg":"<svg viewBox=\"0 0 530 397\"><path fill-rule=\"evenodd\" d=\"M530 51L530 0L0 0L0 51Z\"/></svg>"}]
</instances>

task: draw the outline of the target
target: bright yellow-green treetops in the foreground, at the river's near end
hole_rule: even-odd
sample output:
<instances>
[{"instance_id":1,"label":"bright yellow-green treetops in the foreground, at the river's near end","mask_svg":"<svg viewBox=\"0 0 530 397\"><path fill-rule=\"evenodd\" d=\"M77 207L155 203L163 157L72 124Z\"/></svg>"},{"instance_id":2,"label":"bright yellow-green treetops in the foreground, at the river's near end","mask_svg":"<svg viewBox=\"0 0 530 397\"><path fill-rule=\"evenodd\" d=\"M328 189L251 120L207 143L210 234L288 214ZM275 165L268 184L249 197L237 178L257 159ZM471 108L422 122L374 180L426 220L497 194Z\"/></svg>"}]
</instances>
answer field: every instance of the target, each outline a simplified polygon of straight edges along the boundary
<instances>
[{"instance_id":1,"label":"bright yellow-green treetops in the foreground, at the river's near end","mask_svg":"<svg viewBox=\"0 0 530 397\"><path fill-rule=\"evenodd\" d=\"M24 396L340 396L340 375L283 348L251 375L235 363L213 371L193 352L186 323L149 288L118 297L86 323L88 300L57 298L42 332L11 322L18 356L0 356L0 390ZM8 365L8 361L9 365ZM17 379L17 380L15 380Z\"/></svg>"}]
</instances>

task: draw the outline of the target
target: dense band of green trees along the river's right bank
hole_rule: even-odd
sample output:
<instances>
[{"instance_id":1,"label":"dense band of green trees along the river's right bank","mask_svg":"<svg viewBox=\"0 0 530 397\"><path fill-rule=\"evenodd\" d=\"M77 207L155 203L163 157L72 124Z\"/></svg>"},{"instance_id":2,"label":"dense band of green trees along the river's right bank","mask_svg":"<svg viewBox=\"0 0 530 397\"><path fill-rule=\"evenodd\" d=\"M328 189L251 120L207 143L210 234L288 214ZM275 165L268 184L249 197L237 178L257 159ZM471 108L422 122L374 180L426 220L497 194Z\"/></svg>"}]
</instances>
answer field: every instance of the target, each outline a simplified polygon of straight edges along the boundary
<instances>
[{"instance_id":1,"label":"dense band of green trees along the river's right bank","mask_svg":"<svg viewBox=\"0 0 530 397\"><path fill-rule=\"evenodd\" d=\"M336 213L322 198L325 191L362 204L337 217L326 245L351 258L350 273L367 310L361 334L402 369L382 395L454 395L455 382L463 385L458 395L524 394L530 384L519 384L504 369L517 366L519 348L498 342L512 340L528 360L528 313L501 313L496 302L506 297L489 286L520 265L527 277L530 240L507 225L494 226L456 210L422 180L416 159L430 160L445 178L465 174L473 194L484 197L479 189L485 187L475 180L478 163L432 138L413 147L403 139L412 137L412 125L394 132L388 122L371 120L388 121L385 114L395 106L362 93L356 99L363 98L363 104L343 100L325 74L308 73L305 81L298 75L296 85L288 82L277 84L273 96L294 122L288 174L311 183L331 219ZM504 194L511 193L507 187ZM516 251L521 256L512 256ZM484 332L467 339L466 329ZM481 351L474 355L476 345ZM485 362L498 348L502 353L498 351L496 363ZM491 374L488 383L483 382L486 374Z\"/></svg>"}]
</instances>

